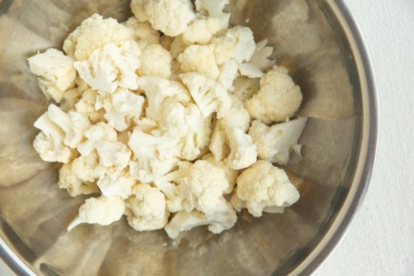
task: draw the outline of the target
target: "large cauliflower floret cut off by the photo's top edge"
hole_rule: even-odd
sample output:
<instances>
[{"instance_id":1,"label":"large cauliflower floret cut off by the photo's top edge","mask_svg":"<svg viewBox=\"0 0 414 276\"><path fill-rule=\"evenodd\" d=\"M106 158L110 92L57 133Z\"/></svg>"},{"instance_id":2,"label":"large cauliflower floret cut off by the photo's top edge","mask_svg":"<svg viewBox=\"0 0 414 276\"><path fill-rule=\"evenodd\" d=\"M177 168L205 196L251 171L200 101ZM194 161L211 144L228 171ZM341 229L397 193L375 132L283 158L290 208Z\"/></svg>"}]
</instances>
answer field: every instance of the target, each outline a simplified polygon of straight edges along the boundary
<instances>
[{"instance_id":1,"label":"large cauliflower floret cut off by the photo's top edge","mask_svg":"<svg viewBox=\"0 0 414 276\"><path fill-rule=\"evenodd\" d=\"M152 28L170 37L182 34L195 19L189 0L135 0L131 9L139 21L148 20Z\"/></svg>"}]
</instances>

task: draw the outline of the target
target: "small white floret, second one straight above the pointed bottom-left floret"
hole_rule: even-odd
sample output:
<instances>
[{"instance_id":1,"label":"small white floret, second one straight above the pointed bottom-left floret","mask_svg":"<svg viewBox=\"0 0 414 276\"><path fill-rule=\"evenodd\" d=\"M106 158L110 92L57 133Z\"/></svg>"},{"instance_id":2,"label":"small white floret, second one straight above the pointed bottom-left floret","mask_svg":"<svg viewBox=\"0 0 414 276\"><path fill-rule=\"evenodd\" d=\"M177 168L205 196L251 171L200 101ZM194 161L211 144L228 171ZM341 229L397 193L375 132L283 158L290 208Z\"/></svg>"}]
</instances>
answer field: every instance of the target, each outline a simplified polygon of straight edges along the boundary
<instances>
[{"instance_id":1,"label":"small white floret, second one straight above the pointed bottom-left floret","mask_svg":"<svg viewBox=\"0 0 414 276\"><path fill-rule=\"evenodd\" d=\"M115 166L117 170L124 170L131 158L131 151L121 142L97 141L95 148L99 155L99 164L106 167Z\"/></svg>"}]
</instances>

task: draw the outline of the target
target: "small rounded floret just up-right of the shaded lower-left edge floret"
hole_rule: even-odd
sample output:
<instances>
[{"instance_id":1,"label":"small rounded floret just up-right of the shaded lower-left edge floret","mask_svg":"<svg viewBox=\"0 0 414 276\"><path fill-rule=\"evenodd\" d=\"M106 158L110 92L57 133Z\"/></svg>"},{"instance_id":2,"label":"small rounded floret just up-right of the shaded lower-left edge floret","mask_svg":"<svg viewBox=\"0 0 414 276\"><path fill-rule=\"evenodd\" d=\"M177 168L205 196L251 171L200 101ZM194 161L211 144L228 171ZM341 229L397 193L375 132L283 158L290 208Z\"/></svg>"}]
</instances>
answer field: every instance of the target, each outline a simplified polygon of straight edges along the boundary
<instances>
[{"instance_id":1,"label":"small rounded floret just up-right of the shaded lower-left edge floret","mask_svg":"<svg viewBox=\"0 0 414 276\"><path fill-rule=\"evenodd\" d=\"M96 150L72 161L72 171L81 181L95 182L105 170L106 168L99 164L99 155Z\"/></svg>"}]
</instances>

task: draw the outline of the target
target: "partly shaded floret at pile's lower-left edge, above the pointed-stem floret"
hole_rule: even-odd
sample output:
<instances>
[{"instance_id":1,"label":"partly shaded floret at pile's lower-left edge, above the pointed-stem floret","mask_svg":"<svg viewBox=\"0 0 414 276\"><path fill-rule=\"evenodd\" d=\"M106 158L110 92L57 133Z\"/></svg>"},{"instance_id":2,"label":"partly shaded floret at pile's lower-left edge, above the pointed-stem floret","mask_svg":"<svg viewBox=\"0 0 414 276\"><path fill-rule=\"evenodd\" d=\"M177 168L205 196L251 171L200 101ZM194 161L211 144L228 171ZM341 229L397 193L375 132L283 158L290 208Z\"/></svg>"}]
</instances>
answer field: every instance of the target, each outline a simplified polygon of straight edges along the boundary
<instances>
[{"instance_id":1,"label":"partly shaded floret at pile's lower-left edge, above the pointed-stem floret","mask_svg":"<svg viewBox=\"0 0 414 276\"><path fill-rule=\"evenodd\" d=\"M68 193L71 197L76 197L77 195L89 195L93 193L99 193L98 187L93 182L82 181L77 177L73 171L72 163L63 164L59 170L59 181L57 185L61 189L68 190Z\"/></svg>"}]
</instances>

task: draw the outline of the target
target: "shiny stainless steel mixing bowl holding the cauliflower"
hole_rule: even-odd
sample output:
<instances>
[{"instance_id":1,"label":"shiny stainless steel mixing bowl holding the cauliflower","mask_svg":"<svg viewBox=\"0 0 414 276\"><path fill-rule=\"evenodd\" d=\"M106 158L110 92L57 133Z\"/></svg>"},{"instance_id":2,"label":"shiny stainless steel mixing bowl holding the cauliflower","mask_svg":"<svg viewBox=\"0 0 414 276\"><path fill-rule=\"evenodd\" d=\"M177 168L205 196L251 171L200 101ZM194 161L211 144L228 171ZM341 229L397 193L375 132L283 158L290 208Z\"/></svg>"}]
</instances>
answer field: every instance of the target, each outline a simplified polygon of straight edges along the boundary
<instances>
[{"instance_id":1,"label":"shiny stainless steel mixing bowl holding the cauliflower","mask_svg":"<svg viewBox=\"0 0 414 276\"><path fill-rule=\"evenodd\" d=\"M310 117L304 159L286 170L302 197L284 215L243 213L235 228L203 228L172 244L125 221L66 233L84 198L57 188L54 164L32 149L46 109L26 58L61 46L93 12L125 20L129 1L0 1L0 253L20 275L308 275L335 247L359 206L377 137L373 72L357 24L340 0L232 1L233 23L268 37L302 86ZM249 20L246 20L249 19ZM168 243L167 246L163 246Z\"/></svg>"}]
</instances>

